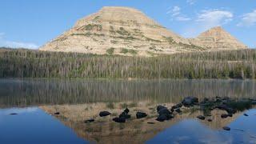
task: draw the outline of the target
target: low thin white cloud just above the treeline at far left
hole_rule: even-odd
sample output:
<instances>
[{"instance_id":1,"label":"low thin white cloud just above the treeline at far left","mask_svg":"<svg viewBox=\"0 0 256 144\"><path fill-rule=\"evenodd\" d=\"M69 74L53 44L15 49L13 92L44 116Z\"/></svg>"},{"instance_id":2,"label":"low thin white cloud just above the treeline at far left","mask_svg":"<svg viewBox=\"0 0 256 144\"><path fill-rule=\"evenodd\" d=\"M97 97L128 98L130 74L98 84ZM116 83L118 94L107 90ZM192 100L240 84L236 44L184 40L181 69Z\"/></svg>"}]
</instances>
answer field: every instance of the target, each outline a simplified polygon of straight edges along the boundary
<instances>
[{"instance_id":1,"label":"low thin white cloud just above the treeline at far left","mask_svg":"<svg viewBox=\"0 0 256 144\"><path fill-rule=\"evenodd\" d=\"M11 48L38 49L38 46L31 42L14 42L4 38L4 33L0 33L0 46Z\"/></svg>"}]
</instances>

